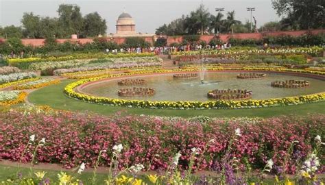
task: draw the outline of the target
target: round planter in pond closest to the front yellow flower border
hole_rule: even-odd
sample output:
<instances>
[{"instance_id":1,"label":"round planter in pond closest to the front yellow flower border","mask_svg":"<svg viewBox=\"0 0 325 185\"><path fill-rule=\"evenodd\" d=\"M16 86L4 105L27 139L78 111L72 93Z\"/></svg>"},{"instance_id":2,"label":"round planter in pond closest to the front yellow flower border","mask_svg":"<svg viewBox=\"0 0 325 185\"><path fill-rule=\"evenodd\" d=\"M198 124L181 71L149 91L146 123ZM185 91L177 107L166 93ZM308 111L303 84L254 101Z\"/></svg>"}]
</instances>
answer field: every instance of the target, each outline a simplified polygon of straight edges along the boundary
<instances>
[{"instance_id":1,"label":"round planter in pond closest to the front yellow flower border","mask_svg":"<svg viewBox=\"0 0 325 185\"><path fill-rule=\"evenodd\" d=\"M212 99L250 99L252 98L252 91L241 89L223 89L223 90L210 90L208 92L208 98Z\"/></svg>"}]
</instances>

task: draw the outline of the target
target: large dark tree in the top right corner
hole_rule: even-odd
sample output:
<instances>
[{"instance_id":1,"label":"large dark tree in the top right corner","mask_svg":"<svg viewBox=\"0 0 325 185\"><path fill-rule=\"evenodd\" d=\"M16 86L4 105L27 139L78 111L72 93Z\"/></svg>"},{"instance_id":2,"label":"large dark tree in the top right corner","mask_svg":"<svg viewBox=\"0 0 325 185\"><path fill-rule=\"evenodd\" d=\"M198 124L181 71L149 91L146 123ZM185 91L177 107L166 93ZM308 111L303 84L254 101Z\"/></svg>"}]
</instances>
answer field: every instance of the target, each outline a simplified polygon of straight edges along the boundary
<instances>
[{"instance_id":1,"label":"large dark tree in the top right corner","mask_svg":"<svg viewBox=\"0 0 325 185\"><path fill-rule=\"evenodd\" d=\"M324 0L272 0L273 8L282 19L282 27L315 29L325 27Z\"/></svg>"}]
</instances>

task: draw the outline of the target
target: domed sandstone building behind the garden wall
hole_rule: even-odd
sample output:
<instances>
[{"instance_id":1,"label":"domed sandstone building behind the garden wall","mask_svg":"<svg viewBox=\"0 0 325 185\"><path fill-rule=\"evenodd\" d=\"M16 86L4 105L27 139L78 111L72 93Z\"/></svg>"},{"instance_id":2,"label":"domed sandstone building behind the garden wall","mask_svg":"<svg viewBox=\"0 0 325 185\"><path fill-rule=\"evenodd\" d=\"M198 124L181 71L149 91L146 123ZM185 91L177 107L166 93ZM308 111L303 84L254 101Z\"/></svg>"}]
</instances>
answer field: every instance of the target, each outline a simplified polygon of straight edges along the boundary
<instances>
[{"instance_id":1,"label":"domed sandstone building behind the garden wall","mask_svg":"<svg viewBox=\"0 0 325 185\"><path fill-rule=\"evenodd\" d=\"M117 18L117 35L135 35L134 19L127 12L123 12Z\"/></svg>"}]
</instances>

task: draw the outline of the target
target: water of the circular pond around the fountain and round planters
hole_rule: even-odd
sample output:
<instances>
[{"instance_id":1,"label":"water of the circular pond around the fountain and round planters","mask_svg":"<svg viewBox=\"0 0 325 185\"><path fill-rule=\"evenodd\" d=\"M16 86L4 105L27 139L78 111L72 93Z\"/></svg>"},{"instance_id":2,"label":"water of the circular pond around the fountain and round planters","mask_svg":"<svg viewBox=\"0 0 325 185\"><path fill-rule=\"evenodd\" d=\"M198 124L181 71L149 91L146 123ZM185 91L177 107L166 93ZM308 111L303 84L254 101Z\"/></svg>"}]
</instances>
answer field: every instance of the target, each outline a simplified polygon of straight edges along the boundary
<instances>
[{"instance_id":1,"label":"water of the circular pond around the fountain and round planters","mask_svg":"<svg viewBox=\"0 0 325 185\"><path fill-rule=\"evenodd\" d=\"M145 79L145 84L130 87L154 88L156 94L150 97L123 97L122 99L139 99L149 101L208 101L207 93L215 89L246 89L252 91L252 99L271 99L310 95L325 91L325 81L309 77L283 75L280 73L266 73L263 79L238 79L238 72L208 72L204 74L203 83L200 77L195 79L176 79L173 74L143 75L137 77L123 77L123 79ZM311 85L306 88L274 88L271 82L290 79L308 80ZM110 97L121 99L118 95L120 79L88 84L82 88L82 93L96 97Z\"/></svg>"}]
</instances>

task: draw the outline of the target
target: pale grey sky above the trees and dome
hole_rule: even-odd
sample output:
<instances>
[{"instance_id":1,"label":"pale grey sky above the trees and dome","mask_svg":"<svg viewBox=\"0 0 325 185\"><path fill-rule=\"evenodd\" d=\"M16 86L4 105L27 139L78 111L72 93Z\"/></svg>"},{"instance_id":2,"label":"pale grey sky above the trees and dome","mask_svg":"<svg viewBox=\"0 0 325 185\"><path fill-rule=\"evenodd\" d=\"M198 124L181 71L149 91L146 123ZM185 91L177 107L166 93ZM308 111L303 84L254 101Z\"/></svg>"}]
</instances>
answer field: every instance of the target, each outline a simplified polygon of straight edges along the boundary
<instances>
[{"instance_id":1,"label":"pale grey sky above the trees and dome","mask_svg":"<svg viewBox=\"0 0 325 185\"><path fill-rule=\"evenodd\" d=\"M107 33L115 33L117 17L124 10L128 12L136 23L136 32L154 33L156 28L164 23L170 23L182 14L189 14L203 3L211 14L217 14L215 8L224 8L236 12L235 18L245 23L250 20L247 7L254 7L253 12L257 25L269 21L280 21L276 10L272 8L271 0L0 0L0 26L21 25L24 12L34 12L40 16L58 17L60 4L76 4L80 6L82 15L98 12L106 19Z\"/></svg>"}]
</instances>

